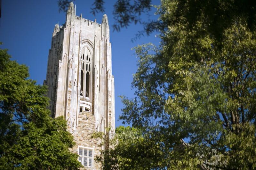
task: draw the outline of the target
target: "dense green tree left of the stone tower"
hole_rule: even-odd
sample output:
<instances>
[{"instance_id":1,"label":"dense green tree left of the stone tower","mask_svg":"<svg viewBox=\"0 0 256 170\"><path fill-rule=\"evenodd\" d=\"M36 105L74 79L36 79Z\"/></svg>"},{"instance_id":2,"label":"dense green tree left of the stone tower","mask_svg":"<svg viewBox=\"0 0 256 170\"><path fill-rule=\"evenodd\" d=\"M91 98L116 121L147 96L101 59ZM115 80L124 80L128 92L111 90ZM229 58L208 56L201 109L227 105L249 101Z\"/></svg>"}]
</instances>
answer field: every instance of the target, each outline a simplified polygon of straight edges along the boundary
<instances>
[{"instance_id":1,"label":"dense green tree left of the stone tower","mask_svg":"<svg viewBox=\"0 0 256 170\"><path fill-rule=\"evenodd\" d=\"M0 49L0 169L79 169L66 121L49 116L47 87L10 58Z\"/></svg>"}]
</instances>

